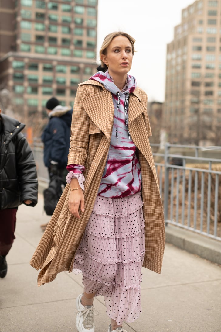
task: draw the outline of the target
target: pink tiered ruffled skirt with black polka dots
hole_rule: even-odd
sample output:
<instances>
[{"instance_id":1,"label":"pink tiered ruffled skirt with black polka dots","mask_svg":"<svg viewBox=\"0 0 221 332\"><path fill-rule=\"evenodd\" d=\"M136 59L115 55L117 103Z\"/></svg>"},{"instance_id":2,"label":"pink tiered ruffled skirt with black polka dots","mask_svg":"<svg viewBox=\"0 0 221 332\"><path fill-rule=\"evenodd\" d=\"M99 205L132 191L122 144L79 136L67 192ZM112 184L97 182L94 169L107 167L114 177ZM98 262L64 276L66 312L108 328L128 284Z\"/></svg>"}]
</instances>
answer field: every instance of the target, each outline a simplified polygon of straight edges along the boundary
<instances>
[{"instance_id":1,"label":"pink tiered ruffled skirt with black polka dots","mask_svg":"<svg viewBox=\"0 0 221 332\"><path fill-rule=\"evenodd\" d=\"M74 273L83 273L84 291L103 295L107 314L119 325L134 321L141 312L142 205L140 193L97 196L73 266Z\"/></svg>"}]
</instances>

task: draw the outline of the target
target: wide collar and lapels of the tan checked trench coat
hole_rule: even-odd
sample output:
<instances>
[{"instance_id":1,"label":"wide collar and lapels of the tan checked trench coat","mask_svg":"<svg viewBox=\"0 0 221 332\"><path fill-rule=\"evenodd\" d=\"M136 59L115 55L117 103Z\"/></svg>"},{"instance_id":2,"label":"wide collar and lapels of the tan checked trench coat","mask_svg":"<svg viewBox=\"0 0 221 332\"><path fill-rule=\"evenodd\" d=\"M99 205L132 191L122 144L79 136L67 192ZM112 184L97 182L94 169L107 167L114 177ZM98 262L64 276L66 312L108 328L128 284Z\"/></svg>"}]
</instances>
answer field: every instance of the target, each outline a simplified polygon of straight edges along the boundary
<instances>
[{"instance_id":1,"label":"wide collar and lapels of the tan checked trench coat","mask_svg":"<svg viewBox=\"0 0 221 332\"><path fill-rule=\"evenodd\" d=\"M111 92L108 91L102 83L94 80L88 80L80 83L79 85L95 85L101 88L100 92L83 100L82 106L89 118L104 133L109 141L111 138L114 119L114 105ZM136 88L129 97L129 126L131 126L133 121L135 121L135 119L145 111L146 105L141 103L140 91Z\"/></svg>"}]
</instances>

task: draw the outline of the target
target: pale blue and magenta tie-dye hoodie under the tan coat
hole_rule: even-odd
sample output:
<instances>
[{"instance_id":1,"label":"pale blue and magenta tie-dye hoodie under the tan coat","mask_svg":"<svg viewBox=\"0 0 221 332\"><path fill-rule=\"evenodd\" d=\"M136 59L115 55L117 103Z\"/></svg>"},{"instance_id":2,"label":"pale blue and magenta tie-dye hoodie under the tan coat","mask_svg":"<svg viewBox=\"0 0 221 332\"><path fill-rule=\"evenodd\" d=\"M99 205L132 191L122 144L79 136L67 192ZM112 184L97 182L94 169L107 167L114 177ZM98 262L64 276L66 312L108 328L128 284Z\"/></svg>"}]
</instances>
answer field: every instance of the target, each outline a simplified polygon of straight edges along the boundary
<instances>
[{"instance_id":1,"label":"pale blue and magenta tie-dye hoodie under the tan coat","mask_svg":"<svg viewBox=\"0 0 221 332\"><path fill-rule=\"evenodd\" d=\"M141 189L141 173L136 146L128 128L128 103L129 94L137 86L136 79L127 75L127 85L123 92L114 84L108 71L99 71L90 79L102 83L112 93L114 103L113 131L98 195L110 198L134 195Z\"/></svg>"}]
</instances>

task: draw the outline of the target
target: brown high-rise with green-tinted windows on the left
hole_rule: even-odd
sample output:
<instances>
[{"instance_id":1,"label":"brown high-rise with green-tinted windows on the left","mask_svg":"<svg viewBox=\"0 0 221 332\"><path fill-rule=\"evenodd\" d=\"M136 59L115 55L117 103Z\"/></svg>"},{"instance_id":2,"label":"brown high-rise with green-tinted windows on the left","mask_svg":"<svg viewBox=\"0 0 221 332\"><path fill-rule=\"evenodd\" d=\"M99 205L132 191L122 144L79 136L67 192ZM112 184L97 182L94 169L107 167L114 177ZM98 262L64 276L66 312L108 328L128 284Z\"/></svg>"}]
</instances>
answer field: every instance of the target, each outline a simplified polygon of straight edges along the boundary
<instances>
[{"instance_id":1,"label":"brown high-rise with green-tinted windows on the left","mask_svg":"<svg viewBox=\"0 0 221 332\"><path fill-rule=\"evenodd\" d=\"M0 3L1 88L37 128L50 97L73 106L78 83L96 72L97 0Z\"/></svg>"}]
</instances>

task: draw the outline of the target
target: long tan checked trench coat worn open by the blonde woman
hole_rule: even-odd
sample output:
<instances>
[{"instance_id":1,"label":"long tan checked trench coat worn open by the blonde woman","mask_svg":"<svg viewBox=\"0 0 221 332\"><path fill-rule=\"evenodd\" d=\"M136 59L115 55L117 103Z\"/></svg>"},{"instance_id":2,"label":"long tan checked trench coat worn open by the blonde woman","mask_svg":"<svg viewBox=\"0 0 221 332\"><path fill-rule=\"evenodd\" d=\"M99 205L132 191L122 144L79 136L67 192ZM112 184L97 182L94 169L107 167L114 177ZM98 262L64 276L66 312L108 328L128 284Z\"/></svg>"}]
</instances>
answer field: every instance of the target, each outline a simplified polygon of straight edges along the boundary
<instances>
[{"instance_id":1,"label":"long tan checked trench coat worn open by the blonde woman","mask_svg":"<svg viewBox=\"0 0 221 332\"><path fill-rule=\"evenodd\" d=\"M137 146L142 176L146 249L143 266L160 273L165 246L165 223L148 139L151 129L146 106L147 95L137 87L129 97L128 125ZM30 261L35 269L41 269L38 286L51 282L59 272L72 272L75 253L93 210L106 164L114 119L111 92L97 81L81 83L73 114L68 164L85 166L85 212L79 212L80 219L69 212L70 188L67 184Z\"/></svg>"}]
</instances>

